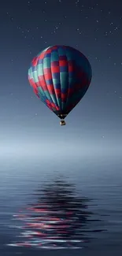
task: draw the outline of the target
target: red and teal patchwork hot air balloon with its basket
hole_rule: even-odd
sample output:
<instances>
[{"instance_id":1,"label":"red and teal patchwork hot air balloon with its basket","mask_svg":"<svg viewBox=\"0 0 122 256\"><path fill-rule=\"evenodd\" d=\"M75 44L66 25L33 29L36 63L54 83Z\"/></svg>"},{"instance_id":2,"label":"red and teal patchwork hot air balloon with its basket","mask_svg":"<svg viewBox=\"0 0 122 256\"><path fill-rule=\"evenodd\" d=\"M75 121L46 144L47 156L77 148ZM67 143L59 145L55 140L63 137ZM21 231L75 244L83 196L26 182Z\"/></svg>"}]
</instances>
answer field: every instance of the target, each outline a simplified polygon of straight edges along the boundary
<instances>
[{"instance_id":1,"label":"red and teal patchwork hot air balloon with its basket","mask_svg":"<svg viewBox=\"0 0 122 256\"><path fill-rule=\"evenodd\" d=\"M92 70L87 58L71 46L49 46L32 61L28 80L35 95L61 119L85 95Z\"/></svg>"}]
</instances>

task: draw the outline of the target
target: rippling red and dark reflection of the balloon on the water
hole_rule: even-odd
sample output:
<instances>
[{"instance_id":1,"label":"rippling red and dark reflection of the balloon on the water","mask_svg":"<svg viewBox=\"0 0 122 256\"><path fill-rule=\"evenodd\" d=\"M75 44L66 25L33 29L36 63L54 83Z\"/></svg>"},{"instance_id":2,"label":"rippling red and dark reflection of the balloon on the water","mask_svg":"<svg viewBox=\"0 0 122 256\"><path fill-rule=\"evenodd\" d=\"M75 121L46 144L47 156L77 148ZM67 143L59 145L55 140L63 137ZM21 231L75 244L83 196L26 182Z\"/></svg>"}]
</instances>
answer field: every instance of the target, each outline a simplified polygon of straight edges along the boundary
<instances>
[{"instance_id":1,"label":"rippling red and dark reflection of the balloon on the water","mask_svg":"<svg viewBox=\"0 0 122 256\"><path fill-rule=\"evenodd\" d=\"M79 249L90 241L88 222L93 215L88 211L91 200L76 195L74 184L55 180L35 191L37 202L13 215L22 225L17 247L45 249ZM94 230L101 232L102 230ZM86 235L84 235L86 233Z\"/></svg>"}]
</instances>

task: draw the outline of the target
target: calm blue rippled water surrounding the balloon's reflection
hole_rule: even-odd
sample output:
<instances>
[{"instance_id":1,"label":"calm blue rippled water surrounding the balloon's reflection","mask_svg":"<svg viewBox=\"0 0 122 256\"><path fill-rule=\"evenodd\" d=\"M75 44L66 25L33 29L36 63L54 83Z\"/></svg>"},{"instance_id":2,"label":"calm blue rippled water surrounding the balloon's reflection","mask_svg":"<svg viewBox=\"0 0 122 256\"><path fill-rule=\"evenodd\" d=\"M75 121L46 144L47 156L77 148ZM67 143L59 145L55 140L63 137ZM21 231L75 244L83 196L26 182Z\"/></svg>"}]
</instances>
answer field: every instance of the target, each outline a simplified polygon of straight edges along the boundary
<instances>
[{"instance_id":1,"label":"calm blue rippled water surrounding the balloon's reflection","mask_svg":"<svg viewBox=\"0 0 122 256\"><path fill-rule=\"evenodd\" d=\"M63 162L44 159L0 161L0 255L116 255L122 253L122 160L120 158L81 158ZM41 250L8 247L19 236L13 214L35 202L38 187L63 176L75 184L76 195L91 198L87 210L94 221L87 222L89 243L80 250ZM101 220L101 221L95 221ZM18 224L18 223L16 223ZM102 232L94 232L95 230ZM104 231L105 230L105 231ZM84 234L85 235L85 234Z\"/></svg>"}]
</instances>

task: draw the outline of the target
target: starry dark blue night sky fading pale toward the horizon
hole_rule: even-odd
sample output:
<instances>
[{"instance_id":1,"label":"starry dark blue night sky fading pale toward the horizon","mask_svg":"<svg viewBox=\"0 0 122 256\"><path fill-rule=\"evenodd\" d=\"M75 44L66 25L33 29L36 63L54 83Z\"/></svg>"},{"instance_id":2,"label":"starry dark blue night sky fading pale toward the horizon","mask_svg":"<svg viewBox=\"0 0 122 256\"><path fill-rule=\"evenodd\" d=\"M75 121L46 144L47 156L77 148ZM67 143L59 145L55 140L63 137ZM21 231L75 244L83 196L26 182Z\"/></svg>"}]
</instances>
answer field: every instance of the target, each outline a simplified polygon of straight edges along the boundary
<instances>
[{"instance_id":1,"label":"starry dark blue night sky fading pale toward the horizon","mask_svg":"<svg viewBox=\"0 0 122 256\"><path fill-rule=\"evenodd\" d=\"M122 1L2 1L0 155L120 154ZM91 62L91 85L61 127L28 83L32 58L65 44Z\"/></svg>"}]
</instances>

